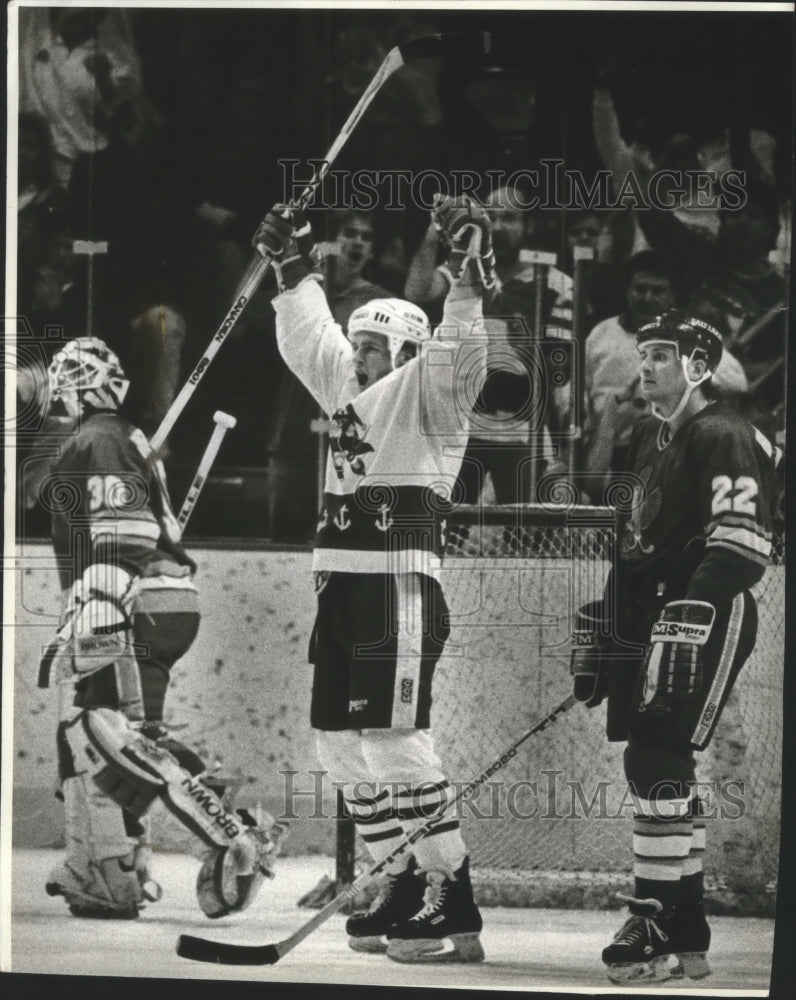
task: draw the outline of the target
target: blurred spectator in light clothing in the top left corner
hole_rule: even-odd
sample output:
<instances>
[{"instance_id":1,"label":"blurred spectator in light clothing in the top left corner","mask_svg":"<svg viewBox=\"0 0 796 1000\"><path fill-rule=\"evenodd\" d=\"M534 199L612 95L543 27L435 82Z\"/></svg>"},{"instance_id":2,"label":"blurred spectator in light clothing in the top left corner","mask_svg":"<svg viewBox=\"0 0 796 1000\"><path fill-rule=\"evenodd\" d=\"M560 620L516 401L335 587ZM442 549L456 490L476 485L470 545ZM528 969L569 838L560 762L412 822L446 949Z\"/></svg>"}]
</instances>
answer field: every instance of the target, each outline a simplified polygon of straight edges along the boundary
<instances>
[{"instance_id":1,"label":"blurred spectator in light clothing in the top left corner","mask_svg":"<svg viewBox=\"0 0 796 1000\"><path fill-rule=\"evenodd\" d=\"M98 7L22 8L19 27L20 110L50 125L56 176L66 186L80 153L107 146L118 100L143 99L129 16Z\"/></svg>"}]
</instances>

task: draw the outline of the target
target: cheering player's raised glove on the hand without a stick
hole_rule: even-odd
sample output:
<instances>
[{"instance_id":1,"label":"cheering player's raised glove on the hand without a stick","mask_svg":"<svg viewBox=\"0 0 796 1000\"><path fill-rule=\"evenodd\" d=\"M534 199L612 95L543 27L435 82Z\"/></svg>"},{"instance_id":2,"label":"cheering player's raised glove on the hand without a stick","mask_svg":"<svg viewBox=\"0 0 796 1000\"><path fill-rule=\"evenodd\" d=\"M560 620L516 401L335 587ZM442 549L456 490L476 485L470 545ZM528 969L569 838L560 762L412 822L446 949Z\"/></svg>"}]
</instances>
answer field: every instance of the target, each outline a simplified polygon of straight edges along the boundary
<instances>
[{"instance_id":1,"label":"cheering player's raised glove on the hand without a stick","mask_svg":"<svg viewBox=\"0 0 796 1000\"><path fill-rule=\"evenodd\" d=\"M447 270L459 281L469 261L474 260L484 288L495 284L495 254L492 224L484 209L467 195L450 198L438 194L431 209L431 221L448 248Z\"/></svg>"}]
</instances>

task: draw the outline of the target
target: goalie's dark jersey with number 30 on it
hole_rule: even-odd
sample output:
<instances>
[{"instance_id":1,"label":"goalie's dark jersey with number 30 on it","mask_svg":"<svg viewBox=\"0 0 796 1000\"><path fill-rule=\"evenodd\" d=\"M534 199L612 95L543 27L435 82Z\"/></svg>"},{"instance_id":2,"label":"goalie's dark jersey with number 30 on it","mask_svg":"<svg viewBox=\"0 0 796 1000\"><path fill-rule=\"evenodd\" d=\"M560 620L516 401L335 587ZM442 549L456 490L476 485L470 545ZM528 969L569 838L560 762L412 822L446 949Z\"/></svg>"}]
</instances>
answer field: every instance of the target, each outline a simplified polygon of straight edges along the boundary
<instances>
[{"instance_id":1,"label":"goalie's dark jersey with number 30 on it","mask_svg":"<svg viewBox=\"0 0 796 1000\"><path fill-rule=\"evenodd\" d=\"M43 489L51 499L62 589L94 562L121 565L135 576L193 566L179 545L162 462L143 431L119 414L86 418Z\"/></svg>"}]
</instances>

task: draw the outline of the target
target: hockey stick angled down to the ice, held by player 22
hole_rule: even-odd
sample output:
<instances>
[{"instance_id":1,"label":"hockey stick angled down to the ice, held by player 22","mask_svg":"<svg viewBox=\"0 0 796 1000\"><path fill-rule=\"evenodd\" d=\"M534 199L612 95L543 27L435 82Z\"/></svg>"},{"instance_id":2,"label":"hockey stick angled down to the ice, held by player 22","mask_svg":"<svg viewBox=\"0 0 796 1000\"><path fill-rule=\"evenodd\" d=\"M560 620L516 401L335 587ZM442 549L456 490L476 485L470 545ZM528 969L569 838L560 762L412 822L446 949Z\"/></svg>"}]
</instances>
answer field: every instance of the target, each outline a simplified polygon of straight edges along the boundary
<instances>
[{"instance_id":1,"label":"hockey stick angled down to the ice, held by player 22","mask_svg":"<svg viewBox=\"0 0 796 1000\"><path fill-rule=\"evenodd\" d=\"M208 941L206 938L194 937L192 934L181 934L177 941L177 954L181 958L190 958L196 962L217 962L223 965L274 965L289 951L292 951L296 945L300 944L304 938L309 937L316 928L326 923L329 917L342 909L371 879L380 875L396 858L408 851L412 844L420 840L421 837L425 837L445 817L451 806L461 799L471 796L488 778L502 770L508 761L517 755L517 751L526 740L541 733L543 729L547 729L559 716L568 712L574 704L575 696L569 695L552 712L538 719L530 729L527 729L519 739L504 750L479 777L463 785L442 812L432 816L422 826L406 834L386 858L354 879L338 896L335 896L322 910L319 910L311 920L299 927L295 934L291 934L290 937L283 941L277 941L275 944L228 944L225 941Z\"/></svg>"}]
</instances>

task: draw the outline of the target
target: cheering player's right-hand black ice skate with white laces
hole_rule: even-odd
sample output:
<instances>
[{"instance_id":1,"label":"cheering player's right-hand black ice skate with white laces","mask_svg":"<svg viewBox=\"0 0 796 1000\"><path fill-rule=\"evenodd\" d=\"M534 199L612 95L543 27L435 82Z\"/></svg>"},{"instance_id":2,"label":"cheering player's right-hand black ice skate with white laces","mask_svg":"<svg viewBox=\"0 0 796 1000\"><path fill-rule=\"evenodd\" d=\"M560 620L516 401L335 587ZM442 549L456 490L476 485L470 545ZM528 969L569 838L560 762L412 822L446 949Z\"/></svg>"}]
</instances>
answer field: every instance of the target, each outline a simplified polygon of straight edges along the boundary
<instances>
[{"instance_id":1,"label":"cheering player's right-hand black ice skate with white laces","mask_svg":"<svg viewBox=\"0 0 796 1000\"><path fill-rule=\"evenodd\" d=\"M473 899L469 860L451 874L426 873L423 908L387 932L387 957L395 962L482 962L481 914Z\"/></svg>"}]
</instances>

